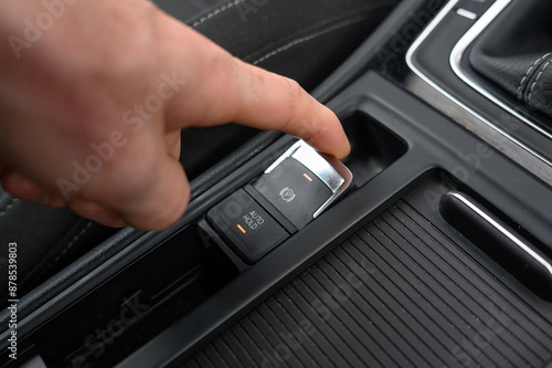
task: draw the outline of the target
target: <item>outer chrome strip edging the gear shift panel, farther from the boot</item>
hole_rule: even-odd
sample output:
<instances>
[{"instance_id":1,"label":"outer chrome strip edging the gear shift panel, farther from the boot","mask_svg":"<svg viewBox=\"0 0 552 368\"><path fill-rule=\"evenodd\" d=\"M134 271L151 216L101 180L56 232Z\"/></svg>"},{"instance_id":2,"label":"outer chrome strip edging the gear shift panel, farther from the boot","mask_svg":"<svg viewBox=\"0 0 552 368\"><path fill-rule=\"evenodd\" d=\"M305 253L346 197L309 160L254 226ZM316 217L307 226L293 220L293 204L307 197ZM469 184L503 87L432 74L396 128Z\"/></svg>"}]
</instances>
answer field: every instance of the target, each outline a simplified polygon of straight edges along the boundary
<instances>
[{"instance_id":1,"label":"outer chrome strip edging the gear shift panel, farther from the boot","mask_svg":"<svg viewBox=\"0 0 552 368\"><path fill-rule=\"evenodd\" d=\"M431 80L427 75L425 75L421 70L418 70L416 67L416 65L414 65L414 62L413 62L414 53L420 49L420 46L422 45L422 43L424 43L424 41L435 30L435 28L437 28L437 25L440 24L440 22L443 21L443 19L450 12L450 10L454 9L454 7L458 3L458 1L459 0L450 0L438 12L438 14L434 18L434 20L432 22L429 22L429 24L424 29L424 31L420 34L420 36L413 42L412 46L406 52L406 64L408 65L408 67L420 78L422 78L424 82L426 82L428 85L431 85L434 90L436 90L442 95L444 95L446 98L450 99L453 103L455 103L456 105L458 105L460 108L463 108L464 111L466 111L468 114L473 115L474 117L476 117L477 119L479 119L481 123L484 123L485 125L487 125L492 130L497 132L498 134L500 134L501 136L503 136L505 138L507 138L508 140L510 140L511 143L513 143L514 145L517 145L518 147L522 148L523 150L526 150L527 153L529 153L533 157L538 158L540 161L542 161L545 165L552 167L552 161L551 160L549 160L544 156L540 155L539 153L534 151L533 149L531 149L530 147L528 147L526 144L523 144L522 141L518 140L516 137L512 137L509 133L505 132L503 129L501 129L497 125L492 124L487 118L485 118L484 116L481 116L480 114L478 114L477 112L475 112L474 109L471 109L470 107L468 107L466 104L464 104L463 102L460 102L459 99L457 99L456 97L454 97L453 95L450 95L448 92L446 92L445 90L443 90L439 85L437 85L433 80ZM500 3L503 2L503 1L510 2L510 0L497 0L497 1L500 2ZM485 15L481 17L481 19L478 22L476 22L476 24L474 27L476 27L477 23L479 23L481 20L487 21L487 19L484 19L484 18L485 18Z\"/></svg>"}]
</instances>

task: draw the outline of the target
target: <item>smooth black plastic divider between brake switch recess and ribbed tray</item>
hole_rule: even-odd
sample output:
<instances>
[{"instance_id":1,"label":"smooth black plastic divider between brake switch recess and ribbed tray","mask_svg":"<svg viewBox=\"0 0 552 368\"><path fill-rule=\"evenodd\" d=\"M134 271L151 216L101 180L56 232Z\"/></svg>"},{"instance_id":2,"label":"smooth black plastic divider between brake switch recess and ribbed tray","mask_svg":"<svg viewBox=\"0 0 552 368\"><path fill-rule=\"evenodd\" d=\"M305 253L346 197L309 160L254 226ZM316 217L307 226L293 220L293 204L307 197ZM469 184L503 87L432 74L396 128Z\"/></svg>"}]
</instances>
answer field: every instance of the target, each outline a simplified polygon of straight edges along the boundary
<instances>
[{"instance_id":1,"label":"smooth black plastic divider between brake switch recess and ribbed tray","mask_svg":"<svg viewBox=\"0 0 552 368\"><path fill-rule=\"evenodd\" d=\"M550 188L378 74L359 80L330 106L339 116L369 114L402 137L408 151L118 367L172 367L183 361L435 170L459 176L458 186L473 188L535 234L549 233L551 214L529 212L527 207L551 208ZM486 150L479 149L481 145ZM473 167L470 155L482 151L485 157ZM505 174L516 180L505 181ZM531 198L519 198L523 191Z\"/></svg>"}]
</instances>

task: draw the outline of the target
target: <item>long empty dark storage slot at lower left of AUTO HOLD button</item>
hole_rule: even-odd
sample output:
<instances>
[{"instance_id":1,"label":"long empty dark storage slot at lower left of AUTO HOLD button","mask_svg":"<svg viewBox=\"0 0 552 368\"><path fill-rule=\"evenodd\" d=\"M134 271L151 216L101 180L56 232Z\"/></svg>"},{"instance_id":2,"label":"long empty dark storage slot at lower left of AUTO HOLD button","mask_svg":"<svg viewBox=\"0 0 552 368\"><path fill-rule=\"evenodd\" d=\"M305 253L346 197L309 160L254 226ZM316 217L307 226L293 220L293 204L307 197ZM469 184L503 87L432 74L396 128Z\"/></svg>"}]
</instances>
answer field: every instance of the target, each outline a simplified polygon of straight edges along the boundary
<instances>
[{"instance_id":1,"label":"long empty dark storage slot at lower left of AUTO HOLD button","mask_svg":"<svg viewBox=\"0 0 552 368\"><path fill-rule=\"evenodd\" d=\"M18 341L8 367L113 367L229 281L187 227Z\"/></svg>"}]
</instances>

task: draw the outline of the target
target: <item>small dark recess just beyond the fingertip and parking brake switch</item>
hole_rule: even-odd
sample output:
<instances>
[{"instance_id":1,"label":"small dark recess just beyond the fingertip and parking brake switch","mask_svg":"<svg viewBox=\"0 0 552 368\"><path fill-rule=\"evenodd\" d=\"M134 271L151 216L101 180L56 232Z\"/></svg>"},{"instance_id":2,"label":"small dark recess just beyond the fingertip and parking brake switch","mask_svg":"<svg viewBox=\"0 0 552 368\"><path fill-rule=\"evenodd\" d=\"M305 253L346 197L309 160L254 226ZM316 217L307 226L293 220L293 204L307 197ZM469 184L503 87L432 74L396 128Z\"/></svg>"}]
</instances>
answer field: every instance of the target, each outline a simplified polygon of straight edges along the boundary
<instances>
[{"instance_id":1,"label":"small dark recess just beyond the fingertip and parking brake switch","mask_svg":"<svg viewBox=\"0 0 552 368\"><path fill-rule=\"evenodd\" d=\"M351 154L342 161L354 176L353 189L362 187L408 149L406 143L363 113L346 116L342 124L351 143Z\"/></svg>"}]
</instances>

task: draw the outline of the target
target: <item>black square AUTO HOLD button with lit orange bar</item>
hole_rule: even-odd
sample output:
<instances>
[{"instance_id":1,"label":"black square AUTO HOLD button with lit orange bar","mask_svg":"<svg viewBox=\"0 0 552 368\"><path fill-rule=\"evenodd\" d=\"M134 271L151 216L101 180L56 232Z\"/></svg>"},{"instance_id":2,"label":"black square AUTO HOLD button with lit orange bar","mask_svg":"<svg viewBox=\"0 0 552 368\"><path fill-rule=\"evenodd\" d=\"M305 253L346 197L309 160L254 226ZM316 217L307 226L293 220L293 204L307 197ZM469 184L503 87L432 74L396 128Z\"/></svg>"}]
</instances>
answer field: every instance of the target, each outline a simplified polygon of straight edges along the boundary
<instances>
[{"instance_id":1,"label":"black square AUTO HOLD button with lit orange bar","mask_svg":"<svg viewBox=\"0 0 552 368\"><path fill-rule=\"evenodd\" d=\"M256 262L289 236L243 189L213 207L206 219L248 263Z\"/></svg>"}]
</instances>

